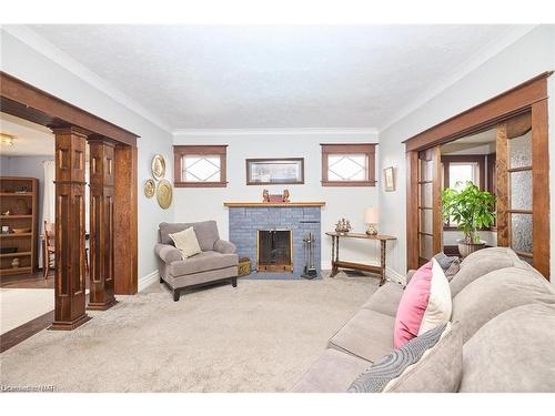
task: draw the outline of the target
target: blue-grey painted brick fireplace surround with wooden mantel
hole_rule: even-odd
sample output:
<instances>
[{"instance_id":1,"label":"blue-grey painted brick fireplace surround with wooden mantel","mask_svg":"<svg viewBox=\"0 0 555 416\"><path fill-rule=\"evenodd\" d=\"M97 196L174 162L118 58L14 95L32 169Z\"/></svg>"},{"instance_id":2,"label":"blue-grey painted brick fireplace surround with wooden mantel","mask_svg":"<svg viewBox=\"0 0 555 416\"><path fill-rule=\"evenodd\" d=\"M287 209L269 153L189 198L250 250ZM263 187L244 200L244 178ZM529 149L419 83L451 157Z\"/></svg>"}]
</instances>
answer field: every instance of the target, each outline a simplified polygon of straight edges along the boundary
<instances>
[{"instance_id":1,"label":"blue-grey painted brick fireplace surround with wooden mantel","mask_svg":"<svg viewBox=\"0 0 555 416\"><path fill-rule=\"evenodd\" d=\"M323 202L306 203L225 203L229 207L230 241L236 245L240 257L251 260L252 277L302 278L304 267L303 239L314 233L314 266L321 274L321 207ZM293 273L255 272L256 231L269 229L291 230L293 237Z\"/></svg>"}]
</instances>

